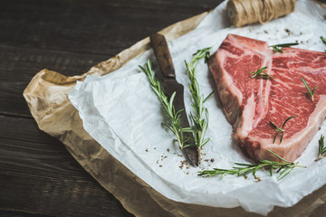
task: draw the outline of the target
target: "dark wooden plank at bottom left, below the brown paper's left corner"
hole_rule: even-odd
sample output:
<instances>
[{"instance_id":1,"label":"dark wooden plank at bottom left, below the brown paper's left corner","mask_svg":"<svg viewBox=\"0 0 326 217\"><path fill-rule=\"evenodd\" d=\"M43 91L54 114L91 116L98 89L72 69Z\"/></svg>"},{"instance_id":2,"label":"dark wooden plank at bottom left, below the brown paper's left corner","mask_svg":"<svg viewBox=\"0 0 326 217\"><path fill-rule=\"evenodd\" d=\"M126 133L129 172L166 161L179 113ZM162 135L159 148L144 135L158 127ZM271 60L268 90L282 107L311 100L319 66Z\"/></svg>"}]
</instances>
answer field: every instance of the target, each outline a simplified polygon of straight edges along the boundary
<instances>
[{"instance_id":1,"label":"dark wooden plank at bottom left, below the brown paper's left corner","mask_svg":"<svg viewBox=\"0 0 326 217\"><path fill-rule=\"evenodd\" d=\"M132 216L31 119L0 117L0 183L0 210Z\"/></svg>"}]
</instances>

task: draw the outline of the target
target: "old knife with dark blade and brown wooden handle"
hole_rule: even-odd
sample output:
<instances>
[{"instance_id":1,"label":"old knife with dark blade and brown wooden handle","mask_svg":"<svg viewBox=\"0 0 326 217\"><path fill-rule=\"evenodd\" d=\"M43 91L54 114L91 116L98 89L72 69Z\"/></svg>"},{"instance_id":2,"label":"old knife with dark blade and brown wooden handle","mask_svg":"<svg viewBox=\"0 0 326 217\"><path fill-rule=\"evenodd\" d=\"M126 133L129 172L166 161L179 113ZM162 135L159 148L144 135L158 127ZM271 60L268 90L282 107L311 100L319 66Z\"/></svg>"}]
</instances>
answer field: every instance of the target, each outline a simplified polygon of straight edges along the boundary
<instances>
[{"instance_id":1,"label":"old knife with dark blade and brown wooden handle","mask_svg":"<svg viewBox=\"0 0 326 217\"><path fill-rule=\"evenodd\" d=\"M182 109L180 112L181 127L189 127L184 102L184 87L176 80L176 72L173 66L171 54L168 50L168 42L164 35L159 33L154 33L150 35L149 38L161 72L157 73L158 80L162 83L168 99L170 99L172 94L176 92L173 106L175 107L176 112ZM194 141L194 137L191 133L184 133L184 137L190 138L189 141ZM189 141L187 141L185 145L188 145ZM184 147L182 148L182 151L190 165L198 166L198 152L196 146Z\"/></svg>"}]
</instances>

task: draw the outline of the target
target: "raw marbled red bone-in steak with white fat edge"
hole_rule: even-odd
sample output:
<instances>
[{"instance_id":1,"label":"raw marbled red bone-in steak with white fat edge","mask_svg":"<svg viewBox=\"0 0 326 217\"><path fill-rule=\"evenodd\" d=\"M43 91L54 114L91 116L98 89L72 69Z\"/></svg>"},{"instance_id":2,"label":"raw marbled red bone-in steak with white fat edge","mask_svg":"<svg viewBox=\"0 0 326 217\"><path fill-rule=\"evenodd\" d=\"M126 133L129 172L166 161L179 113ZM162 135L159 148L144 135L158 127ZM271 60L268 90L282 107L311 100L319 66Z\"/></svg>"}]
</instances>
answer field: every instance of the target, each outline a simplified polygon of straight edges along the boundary
<instances>
[{"instance_id":1,"label":"raw marbled red bone-in steak with white fat edge","mask_svg":"<svg viewBox=\"0 0 326 217\"><path fill-rule=\"evenodd\" d=\"M283 48L273 52L267 42L229 34L208 61L233 137L246 156L254 160L294 161L312 140L326 117L326 52ZM255 79L250 71L267 66L273 80ZM311 90L312 101L302 82ZM283 142L273 138L282 127Z\"/></svg>"}]
</instances>

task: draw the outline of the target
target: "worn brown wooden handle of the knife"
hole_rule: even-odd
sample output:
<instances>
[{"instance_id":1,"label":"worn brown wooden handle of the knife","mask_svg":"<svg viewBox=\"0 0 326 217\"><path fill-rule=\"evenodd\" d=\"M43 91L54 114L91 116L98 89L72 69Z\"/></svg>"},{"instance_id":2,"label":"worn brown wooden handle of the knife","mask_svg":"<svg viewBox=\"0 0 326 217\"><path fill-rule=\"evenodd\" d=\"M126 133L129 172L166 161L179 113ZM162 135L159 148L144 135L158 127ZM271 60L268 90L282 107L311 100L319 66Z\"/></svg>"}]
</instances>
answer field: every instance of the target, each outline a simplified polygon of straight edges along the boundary
<instances>
[{"instance_id":1,"label":"worn brown wooden handle of the knife","mask_svg":"<svg viewBox=\"0 0 326 217\"><path fill-rule=\"evenodd\" d=\"M153 33L150 35L150 42L157 56L163 76L168 79L176 79L176 72L174 70L171 54L168 50L168 42L164 35Z\"/></svg>"}]
</instances>

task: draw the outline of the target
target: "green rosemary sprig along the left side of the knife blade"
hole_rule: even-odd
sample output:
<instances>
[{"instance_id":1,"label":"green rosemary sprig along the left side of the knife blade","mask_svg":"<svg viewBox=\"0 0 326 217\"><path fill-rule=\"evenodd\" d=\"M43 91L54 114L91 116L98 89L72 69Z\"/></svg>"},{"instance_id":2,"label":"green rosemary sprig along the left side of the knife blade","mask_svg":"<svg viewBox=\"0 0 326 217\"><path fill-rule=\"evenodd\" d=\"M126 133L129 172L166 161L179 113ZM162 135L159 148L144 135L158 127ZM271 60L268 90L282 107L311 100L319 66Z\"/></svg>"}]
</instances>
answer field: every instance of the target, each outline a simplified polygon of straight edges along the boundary
<instances>
[{"instance_id":1,"label":"green rosemary sprig along the left side of the knife blade","mask_svg":"<svg viewBox=\"0 0 326 217\"><path fill-rule=\"evenodd\" d=\"M187 138L184 137L184 133L186 132L192 132L192 129L190 127L181 127L180 123L180 111L178 110L176 112L174 106L173 106L173 100L176 97L176 92L174 92L170 99L168 99L167 95L163 92L161 89L161 85L159 81L156 79L156 77L153 74L152 67L151 67L151 61L147 61L144 67L139 66L141 71L145 72L146 76L149 79L150 87L154 92L156 93L158 100L161 102L163 108L164 108L164 114L171 120L171 123L169 125L164 124L167 126L177 137L177 143L180 148L184 148L186 146Z\"/></svg>"}]
</instances>

